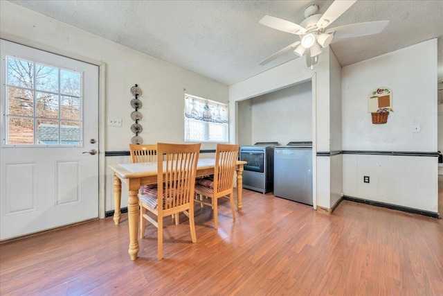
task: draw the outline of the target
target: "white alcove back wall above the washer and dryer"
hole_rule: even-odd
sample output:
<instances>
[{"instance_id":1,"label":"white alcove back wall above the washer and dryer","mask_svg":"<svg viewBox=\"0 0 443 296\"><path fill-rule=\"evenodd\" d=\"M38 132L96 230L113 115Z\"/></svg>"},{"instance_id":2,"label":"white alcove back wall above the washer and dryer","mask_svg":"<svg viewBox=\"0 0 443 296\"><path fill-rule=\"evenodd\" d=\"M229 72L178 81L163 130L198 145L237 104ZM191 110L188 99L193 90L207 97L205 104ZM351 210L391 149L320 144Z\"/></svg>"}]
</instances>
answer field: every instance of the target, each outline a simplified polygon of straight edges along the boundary
<instances>
[{"instance_id":1,"label":"white alcove back wall above the washer and dryer","mask_svg":"<svg viewBox=\"0 0 443 296\"><path fill-rule=\"evenodd\" d=\"M251 99L252 142L312 141L311 81Z\"/></svg>"}]
</instances>

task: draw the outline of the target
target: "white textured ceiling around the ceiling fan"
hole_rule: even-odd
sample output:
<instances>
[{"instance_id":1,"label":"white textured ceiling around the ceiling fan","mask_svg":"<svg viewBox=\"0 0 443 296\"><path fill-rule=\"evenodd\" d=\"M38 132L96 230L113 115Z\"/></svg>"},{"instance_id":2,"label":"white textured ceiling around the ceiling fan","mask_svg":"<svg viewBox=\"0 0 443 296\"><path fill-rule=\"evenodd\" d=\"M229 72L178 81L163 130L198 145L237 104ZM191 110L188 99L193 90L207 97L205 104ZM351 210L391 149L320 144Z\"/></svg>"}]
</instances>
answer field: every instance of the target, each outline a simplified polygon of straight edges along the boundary
<instances>
[{"instance_id":1,"label":"white textured ceiling around the ceiling fan","mask_svg":"<svg viewBox=\"0 0 443 296\"><path fill-rule=\"evenodd\" d=\"M320 13L327 1L11 1L160 60L232 85L296 58L269 55L298 40L258 21L264 15L297 24L307 6ZM438 39L438 80L443 80L443 1L357 1L330 27L390 21L377 35L331 45L342 66L406 46ZM321 58L321 57L320 57ZM417 57L419 58L419 57Z\"/></svg>"}]
</instances>

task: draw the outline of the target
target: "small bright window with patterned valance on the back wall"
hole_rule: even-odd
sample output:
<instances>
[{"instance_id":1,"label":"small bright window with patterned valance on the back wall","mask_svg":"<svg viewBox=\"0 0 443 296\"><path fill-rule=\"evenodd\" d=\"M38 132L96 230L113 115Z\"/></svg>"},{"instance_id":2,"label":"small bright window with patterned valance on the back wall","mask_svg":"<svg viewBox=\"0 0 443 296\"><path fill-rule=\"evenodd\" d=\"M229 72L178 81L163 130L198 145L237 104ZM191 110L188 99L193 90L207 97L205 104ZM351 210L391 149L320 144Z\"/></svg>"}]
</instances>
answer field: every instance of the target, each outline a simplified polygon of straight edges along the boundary
<instances>
[{"instance_id":1,"label":"small bright window with patterned valance on the back wall","mask_svg":"<svg viewBox=\"0 0 443 296\"><path fill-rule=\"evenodd\" d=\"M185 94L185 141L227 142L228 105Z\"/></svg>"}]
</instances>

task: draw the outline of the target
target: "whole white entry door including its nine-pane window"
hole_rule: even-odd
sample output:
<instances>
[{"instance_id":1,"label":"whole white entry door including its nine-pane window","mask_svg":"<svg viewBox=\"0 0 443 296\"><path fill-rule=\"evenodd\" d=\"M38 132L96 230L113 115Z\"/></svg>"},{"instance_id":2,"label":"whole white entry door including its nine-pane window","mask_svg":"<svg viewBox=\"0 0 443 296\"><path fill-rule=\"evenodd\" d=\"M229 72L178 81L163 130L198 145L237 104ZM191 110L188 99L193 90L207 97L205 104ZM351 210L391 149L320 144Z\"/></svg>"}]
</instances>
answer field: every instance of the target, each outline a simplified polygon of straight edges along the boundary
<instances>
[{"instance_id":1,"label":"whole white entry door including its nine-pane window","mask_svg":"<svg viewBox=\"0 0 443 296\"><path fill-rule=\"evenodd\" d=\"M0 53L0 240L97 218L98 67L5 40Z\"/></svg>"}]
</instances>

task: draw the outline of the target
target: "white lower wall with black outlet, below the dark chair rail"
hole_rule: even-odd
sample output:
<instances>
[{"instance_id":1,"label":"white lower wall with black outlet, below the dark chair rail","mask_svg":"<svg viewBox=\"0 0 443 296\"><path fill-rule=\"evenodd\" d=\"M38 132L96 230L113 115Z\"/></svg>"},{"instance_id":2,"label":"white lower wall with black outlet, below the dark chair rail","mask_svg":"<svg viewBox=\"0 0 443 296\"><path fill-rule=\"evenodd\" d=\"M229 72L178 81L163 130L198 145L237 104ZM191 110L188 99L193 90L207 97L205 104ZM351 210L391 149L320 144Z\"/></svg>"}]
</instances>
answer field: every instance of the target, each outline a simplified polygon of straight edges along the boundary
<instances>
[{"instance_id":1,"label":"white lower wall with black outlet, below the dark chair rail","mask_svg":"<svg viewBox=\"0 0 443 296\"><path fill-rule=\"evenodd\" d=\"M370 183L363 183L370 176ZM343 155L344 194L437 213L436 157Z\"/></svg>"}]
</instances>

